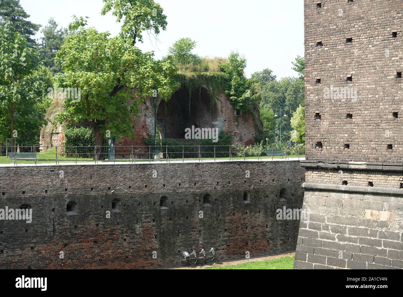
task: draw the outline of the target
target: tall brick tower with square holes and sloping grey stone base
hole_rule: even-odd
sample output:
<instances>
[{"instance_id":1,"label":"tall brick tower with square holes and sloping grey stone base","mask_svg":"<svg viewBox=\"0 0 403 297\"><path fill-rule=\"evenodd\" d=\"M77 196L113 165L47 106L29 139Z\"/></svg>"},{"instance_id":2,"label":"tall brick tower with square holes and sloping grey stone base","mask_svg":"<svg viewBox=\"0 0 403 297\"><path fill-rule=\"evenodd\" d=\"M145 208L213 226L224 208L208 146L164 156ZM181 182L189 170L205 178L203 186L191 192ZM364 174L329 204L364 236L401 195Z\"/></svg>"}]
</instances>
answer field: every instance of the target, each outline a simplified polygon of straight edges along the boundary
<instances>
[{"instance_id":1,"label":"tall brick tower with square holes and sloping grey stone base","mask_svg":"<svg viewBox=\"0 0 403 297\"><path fill-rule=\"evenodd\" d=\"M401 0L304 0L304 205L295 268L403 268Z\"/></svg>"}]
</instances>

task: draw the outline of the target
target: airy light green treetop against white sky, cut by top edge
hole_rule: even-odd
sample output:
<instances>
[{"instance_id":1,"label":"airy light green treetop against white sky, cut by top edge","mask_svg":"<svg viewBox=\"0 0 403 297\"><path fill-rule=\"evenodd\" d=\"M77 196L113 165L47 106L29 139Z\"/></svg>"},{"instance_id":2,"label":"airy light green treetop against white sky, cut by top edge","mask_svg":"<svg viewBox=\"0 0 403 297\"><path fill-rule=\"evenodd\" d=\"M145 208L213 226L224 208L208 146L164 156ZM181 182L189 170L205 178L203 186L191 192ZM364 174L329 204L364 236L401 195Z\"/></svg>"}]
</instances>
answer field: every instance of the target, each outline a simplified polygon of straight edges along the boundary
<instances>
[{"instance_id":1,"label":"airy light green treetop against white sky, cut by top edge","mask_svg":"<svg viewBox=\"0 0 403 297\"><path fill-rule=\"evenodd\" d=\"M166 29L166 15L160 4L152 0L103 0L105 2L101 14L112 11L116 21L123 19L120 34L123 39L135 45L136 41L143 42L143 32L152 33L155 36L160 29Z\"/></svg>"}]
</instances>

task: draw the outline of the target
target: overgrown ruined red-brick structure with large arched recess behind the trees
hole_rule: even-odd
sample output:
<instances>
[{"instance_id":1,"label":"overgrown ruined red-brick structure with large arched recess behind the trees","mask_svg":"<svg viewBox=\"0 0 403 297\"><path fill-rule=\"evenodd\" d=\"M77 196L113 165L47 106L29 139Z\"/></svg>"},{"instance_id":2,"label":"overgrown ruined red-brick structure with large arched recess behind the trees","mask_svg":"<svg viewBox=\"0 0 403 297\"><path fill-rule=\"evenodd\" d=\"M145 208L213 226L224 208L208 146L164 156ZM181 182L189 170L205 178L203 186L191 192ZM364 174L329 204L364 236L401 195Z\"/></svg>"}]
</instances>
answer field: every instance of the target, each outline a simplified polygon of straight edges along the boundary
<instances>
[{"instance_id":1,"label":"overgrown ruined red-brick structure with large arched recess behind the trees","mask_svg":"<svg viewBox=\"0 0 403 297\"><path fill-rule=\"evenodd\" d=\"M137 100L137 99L133 99ZM131 103L129 100L128 104ZM190 105L190 106L189 106ZM190 112L189 112L190 107ZM154 135L154 98L147 97L139 105L139 117L132 116L135 139L123 137L116 140L116 146L146 145L144 138ZM75 126L90 126L88 123L78 123ZM234 109L224 93L217 92L217 99L210 98L207 88L195 90L191 93L186 87L175 92L168 101L157 99L157 128L161 138L185 137L185 128L191 126L199 128L218 128L219 132L233 135L235 145L250 145L255 143L255 137L262 133L262 122L259 111L241 112ZM63 145L64 134L56 132L52 123L41 131L42 150L45 146ZM46 132L47 131L47 132ZM113 136L113 135L112 135ZM135 158L149 158L149 148L135 148ZM143 152L144 155L138 154ZM122 158L131 154L131 147L117 147L115 158Z\"/></svg>"}]
</instances>

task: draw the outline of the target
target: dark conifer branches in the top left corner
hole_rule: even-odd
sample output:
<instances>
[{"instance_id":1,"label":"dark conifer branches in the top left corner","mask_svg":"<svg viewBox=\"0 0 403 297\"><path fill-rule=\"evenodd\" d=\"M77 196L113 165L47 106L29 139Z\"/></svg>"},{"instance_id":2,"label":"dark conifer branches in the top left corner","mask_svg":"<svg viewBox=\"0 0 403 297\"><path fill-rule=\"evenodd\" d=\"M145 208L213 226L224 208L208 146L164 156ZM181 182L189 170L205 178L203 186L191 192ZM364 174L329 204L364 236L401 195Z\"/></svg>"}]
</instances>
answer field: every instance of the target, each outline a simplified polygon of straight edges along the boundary
<instances>
[{"instance_id":1,"label":"dark conifer branches in the top left corner","mask_svg":"<svg viewBox=\"0 0 403 297\"><path fill-rule=\"evenodd\" d=\"M25 35L29 46L35 44L32 35L39 30L41 25L28 21L29 15L20 5L19 0L2 0L0 1L0 19L3 23L11 22L14 29Z\"/></svg>"}]
</instances>

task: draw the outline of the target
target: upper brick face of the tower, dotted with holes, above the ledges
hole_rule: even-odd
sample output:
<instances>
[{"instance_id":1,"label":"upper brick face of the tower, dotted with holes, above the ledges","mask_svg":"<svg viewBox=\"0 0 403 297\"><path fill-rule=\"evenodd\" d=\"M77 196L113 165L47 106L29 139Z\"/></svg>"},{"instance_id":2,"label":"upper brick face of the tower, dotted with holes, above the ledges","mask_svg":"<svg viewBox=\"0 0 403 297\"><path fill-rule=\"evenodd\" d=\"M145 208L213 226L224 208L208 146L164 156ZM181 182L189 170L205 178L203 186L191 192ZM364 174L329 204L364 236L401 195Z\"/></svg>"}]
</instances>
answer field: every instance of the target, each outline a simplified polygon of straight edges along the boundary
<instances>
[{"instance_id":1,"label":"upper brick face of the tower, dotted with holes, above the ledges","mask_svg":"<svg viewBox=\"0 0 403 297\"><path fill-rule=\"evenodd\" d=\"M403 2L324 0L320 8L320 1L304 2L305 157L401 160ZM351 89L352 96L344 95Z\"/></svg>"}]
</instances>

